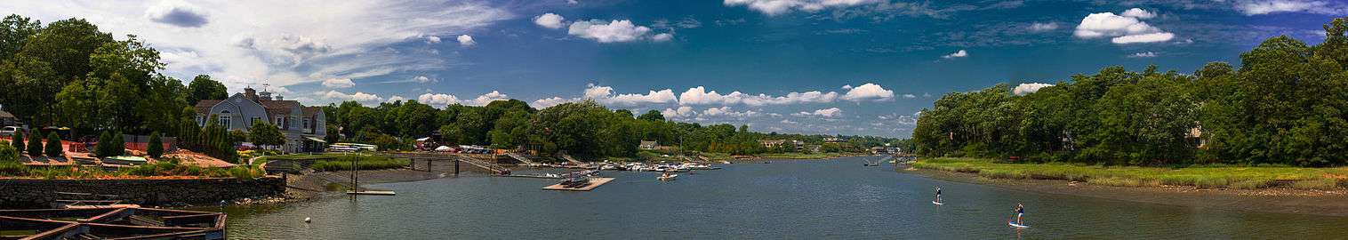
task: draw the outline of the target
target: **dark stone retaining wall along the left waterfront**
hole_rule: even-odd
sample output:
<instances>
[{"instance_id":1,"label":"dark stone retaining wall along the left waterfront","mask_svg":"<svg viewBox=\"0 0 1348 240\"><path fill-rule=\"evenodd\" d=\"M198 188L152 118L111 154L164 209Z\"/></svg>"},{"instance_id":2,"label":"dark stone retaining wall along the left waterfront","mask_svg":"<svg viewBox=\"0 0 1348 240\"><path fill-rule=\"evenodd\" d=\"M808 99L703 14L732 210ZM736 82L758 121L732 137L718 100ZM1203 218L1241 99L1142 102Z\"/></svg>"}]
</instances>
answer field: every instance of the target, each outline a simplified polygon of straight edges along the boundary
<instances>
[{"instance_id":1,"label":"dark stone retaining wall along the left waterfront","mask_svg":"<svg viewBox=\"0 0 1348 240\"><path fill-rule=\"evenodd\" d=\"M78 196L65 193L88 193ZM0 209L51 208L55 200L121 200L143 206L214 205L286 193L278 177L257 179L0 179Z\"/></svg>"}]
</instances>

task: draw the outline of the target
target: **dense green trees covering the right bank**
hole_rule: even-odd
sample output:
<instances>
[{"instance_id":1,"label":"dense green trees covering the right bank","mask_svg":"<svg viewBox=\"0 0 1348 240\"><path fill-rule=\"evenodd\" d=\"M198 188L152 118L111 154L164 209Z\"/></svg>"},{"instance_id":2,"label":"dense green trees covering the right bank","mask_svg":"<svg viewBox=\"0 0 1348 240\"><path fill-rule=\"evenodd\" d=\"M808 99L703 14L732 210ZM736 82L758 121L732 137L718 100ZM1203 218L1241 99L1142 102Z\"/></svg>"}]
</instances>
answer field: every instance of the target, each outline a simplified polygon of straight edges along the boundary
<instances>
[{"instance_id":1,"label":"dense green trees covering the right bank","mask_svg":"<svg viewBox=\"0 0 1348 240\"><path fill-rule=\"evenodd\" d=\"M1159 71L1157 66L1140 73L1105 67L1037 92L1002 84L945 94L933 108L922 111L913 143L919 154L929 156L1019 156L1018 160L1039 163L1344 166L1348 164L1345 31L1348 19L1335 19L1325 24L1325 40L1320 44L1275 36L1242 54L1239 66L1212 62L1192 74ZM1003 170L992 169L988 174ZM1212 169L1192 171L1206 170ZM1250 171L1266 170L1294 174L1283 171L1290 169ZM1318 179L1305 174L1295 178ZM1246 179L1242 175L1182 182L1231 185ZM1282 181L1262 175L1251 179Z\"/></svg>"}]
</instances>

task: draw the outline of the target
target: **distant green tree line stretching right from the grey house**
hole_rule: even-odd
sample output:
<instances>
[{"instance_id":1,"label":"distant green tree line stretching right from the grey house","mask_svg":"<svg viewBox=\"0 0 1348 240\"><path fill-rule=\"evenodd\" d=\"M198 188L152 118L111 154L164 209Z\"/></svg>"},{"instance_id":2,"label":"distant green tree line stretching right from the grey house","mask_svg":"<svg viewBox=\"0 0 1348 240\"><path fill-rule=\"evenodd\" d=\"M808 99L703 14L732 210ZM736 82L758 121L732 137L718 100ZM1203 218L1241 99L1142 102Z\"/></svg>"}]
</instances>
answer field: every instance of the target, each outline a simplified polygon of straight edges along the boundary
<instances>
[{"instance_id":1,"label":"distant green tree line stretching right from the grey house","mask_svg":"<svg viewBox=\"0 0 1348 240\"><path fill-rule=\"evenodd\" d=\"M411 148L411 139L439 132L446 144L477 144L503 150L568 152L578 156L635 156L642 140L682 150L749 155L794 152L793 147L767 148L760 140L790 139L820 144L822 151L859 152L867 147L898 143L875 136L847 136L847 143L824 144L824 135L762 133L748 125L678 123L659 111L634 115L594 101L566 102L535 109L520 100L499 100L483 107L452 104L443 109L415 100L364 107L356 101L332 104L328 113L329 142L359 142L381 148ZM342 139L342 136L346 136Z\"/></svg>"}]
</instances>

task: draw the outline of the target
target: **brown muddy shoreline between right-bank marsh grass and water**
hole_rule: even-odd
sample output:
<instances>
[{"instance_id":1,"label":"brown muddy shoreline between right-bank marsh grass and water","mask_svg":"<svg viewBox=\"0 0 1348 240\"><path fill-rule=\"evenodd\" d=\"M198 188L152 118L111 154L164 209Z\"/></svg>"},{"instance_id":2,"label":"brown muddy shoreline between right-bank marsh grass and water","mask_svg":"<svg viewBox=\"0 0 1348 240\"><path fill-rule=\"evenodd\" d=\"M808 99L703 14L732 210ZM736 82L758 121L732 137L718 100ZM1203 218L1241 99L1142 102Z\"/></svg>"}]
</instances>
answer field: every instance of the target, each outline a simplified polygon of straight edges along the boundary
<instances>
[{"instance_id":1,"label":"brown muddy shoreline between right-bank marsh grass and water","mask_svg":"<svg viewBox=\"0 0 1348 240\"><path fill-rule=\"evenodd\" d=\"M931 179L976 183L1002 189L1104 198L1170 206L1194 206L1220 210L1310 214L1348 217L1348 190L1301 189L1205 189L1194 186L1103 186L1064 179L999 179L975 173L954 173L922 169L896 169Z\"/></svg>"}]
</instances>

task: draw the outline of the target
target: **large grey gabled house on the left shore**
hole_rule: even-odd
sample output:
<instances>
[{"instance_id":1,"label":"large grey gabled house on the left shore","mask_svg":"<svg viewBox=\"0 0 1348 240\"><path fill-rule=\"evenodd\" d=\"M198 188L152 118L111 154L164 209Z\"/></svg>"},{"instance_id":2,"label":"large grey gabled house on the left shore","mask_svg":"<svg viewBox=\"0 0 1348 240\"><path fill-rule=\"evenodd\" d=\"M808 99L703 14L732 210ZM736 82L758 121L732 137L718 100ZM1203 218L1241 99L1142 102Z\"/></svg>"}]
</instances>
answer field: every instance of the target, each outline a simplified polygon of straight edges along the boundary
<instances>
[{"instance_id":1,"label":"large grey gabled house on the left shore","mask_svg":"<svg viewBox=\"0 0 1348 240\"><path fill-rule=\"evenodd\" d=\"M284 152L313 152L328 147L328 119L319 107L305 107L299 101L272 98L271 93L257 93L245 88L224 100L201 100L197 102L197 124L205 127L210 116L229 131L247 132L256 121L271 123L286 135Z\"/></svg>"}]
</instances>

